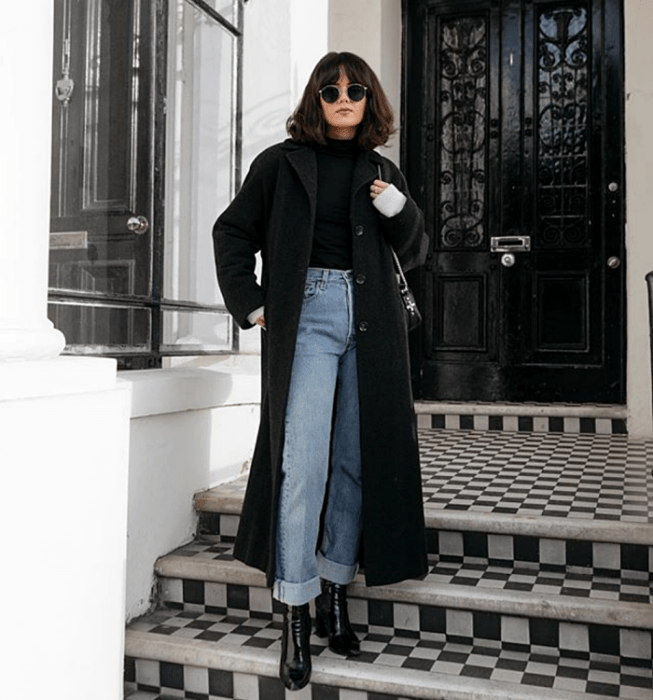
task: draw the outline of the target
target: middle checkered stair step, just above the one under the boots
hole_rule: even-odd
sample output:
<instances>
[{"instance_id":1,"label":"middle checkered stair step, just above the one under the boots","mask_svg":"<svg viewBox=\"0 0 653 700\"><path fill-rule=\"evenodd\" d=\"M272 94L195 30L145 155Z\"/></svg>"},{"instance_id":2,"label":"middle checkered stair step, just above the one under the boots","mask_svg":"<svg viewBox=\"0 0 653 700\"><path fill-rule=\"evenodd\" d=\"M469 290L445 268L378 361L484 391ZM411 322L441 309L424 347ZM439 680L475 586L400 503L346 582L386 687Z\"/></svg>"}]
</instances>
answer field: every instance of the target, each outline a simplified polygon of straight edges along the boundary
<instances>
[{"instance_id":1,"label":"middle checkered stair step, just above the one under the boots","mask_svg":"<svg viewBox=\"0 0 653 700\"><path fill-rule=\"evenodd\" d=\"M616 655L628 648L640 659L652 656L653 589L648 579L541 573L435 558L430 564L429 574L419 581L368 588L359 576L349 587L352 621L373 621L407 634L465 626L468 636L485 630L482 634L495 641L514 641L519 630L520 643L526 645L543 636L557 640L562 627L574 639L594 640L591 650L605 650L610 638ZM196 542L160 559L156 572L160 600L168 607L273 613L265 577L234 561L229 544Z\"/></svg>"}]
</instances>

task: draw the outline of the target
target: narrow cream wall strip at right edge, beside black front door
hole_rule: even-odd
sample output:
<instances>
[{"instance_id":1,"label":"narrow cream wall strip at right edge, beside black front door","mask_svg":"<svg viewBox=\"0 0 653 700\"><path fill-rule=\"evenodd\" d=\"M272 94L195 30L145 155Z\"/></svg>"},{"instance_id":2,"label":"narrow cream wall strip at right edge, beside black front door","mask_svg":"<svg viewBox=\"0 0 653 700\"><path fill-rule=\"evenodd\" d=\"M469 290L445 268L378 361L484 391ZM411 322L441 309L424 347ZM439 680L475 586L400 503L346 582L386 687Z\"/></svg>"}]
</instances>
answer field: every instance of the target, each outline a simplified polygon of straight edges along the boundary
<instances>
[{"instance_id":1,"label":"narrow cream wall strip at right edge, beside black front door","mask_svg":"<svg viewBox=\"0 0 653 700\"><path fill-rule=\"evenodd\" d=\"M651 0L625 0L628 431L653 437L649 312L644 276L653 270L653 74Z\"/></svg>"}]
</instances>

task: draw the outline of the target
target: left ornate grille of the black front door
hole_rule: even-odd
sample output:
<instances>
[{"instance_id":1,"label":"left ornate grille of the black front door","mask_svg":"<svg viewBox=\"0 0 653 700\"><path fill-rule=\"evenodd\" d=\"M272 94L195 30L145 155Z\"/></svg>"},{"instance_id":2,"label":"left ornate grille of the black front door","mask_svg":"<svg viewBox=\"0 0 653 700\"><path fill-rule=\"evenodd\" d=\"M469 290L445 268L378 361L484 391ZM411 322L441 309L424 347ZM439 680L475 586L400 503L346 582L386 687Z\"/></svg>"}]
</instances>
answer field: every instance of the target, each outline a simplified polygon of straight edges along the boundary
<instances>
[{"instance_id":1,"label":"left ornate grille of the black front door","mask_svg":"<svg viewBox=\"0 0 653 700\"><path fill-rule=\"evenodd\" d=\"M443 21L439 43L440 245L478 248L487 228L487 19Z\"/></svg>"}]
</instances>

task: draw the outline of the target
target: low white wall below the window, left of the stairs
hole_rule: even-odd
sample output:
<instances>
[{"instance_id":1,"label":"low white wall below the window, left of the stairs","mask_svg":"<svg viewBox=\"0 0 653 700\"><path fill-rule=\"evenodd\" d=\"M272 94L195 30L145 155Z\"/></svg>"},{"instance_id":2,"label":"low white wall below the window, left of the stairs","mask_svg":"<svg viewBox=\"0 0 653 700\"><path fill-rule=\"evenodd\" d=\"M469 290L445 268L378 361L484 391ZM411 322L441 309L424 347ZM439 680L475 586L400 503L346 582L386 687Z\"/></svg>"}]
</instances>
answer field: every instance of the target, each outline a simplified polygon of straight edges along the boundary
<instances>
[{"instance_id":1,"label":"low white wall below the window, left of the stairs","mask_svg":"<svg viewBox=\"0 0 653 700\"><path fill-rule=\"evenodd\" d=\"M260 376L243 360L120 373L132 388L127 620L151 607L157 558L193 539L193 496L249 468Z\"/></svg>"}]
</instances>

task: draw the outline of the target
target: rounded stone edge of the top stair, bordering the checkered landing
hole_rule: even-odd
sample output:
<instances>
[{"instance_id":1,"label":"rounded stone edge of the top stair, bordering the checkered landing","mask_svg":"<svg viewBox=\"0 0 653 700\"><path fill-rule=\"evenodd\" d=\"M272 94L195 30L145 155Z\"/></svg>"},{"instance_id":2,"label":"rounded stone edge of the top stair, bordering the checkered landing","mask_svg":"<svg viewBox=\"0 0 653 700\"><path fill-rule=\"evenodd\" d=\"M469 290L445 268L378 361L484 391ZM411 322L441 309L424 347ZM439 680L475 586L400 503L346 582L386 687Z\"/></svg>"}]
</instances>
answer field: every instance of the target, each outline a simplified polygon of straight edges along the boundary
<instances>
[{"instance_id":1,"label":"rounded stone edge of the top stair, bordering the checkered landing","mask_svg":"<svg viewBox=\"0 0 653 700\"><path fill-rule=\"evenodd\" d=\"M221 492L217 486L195 494L195 510L199 513L240 515L243 496L242 493ZM429 530L483 532L493 535L521 535L653 547L653 527L648 523L448 511L428 506L424 508L424 518Z\"/></svg>"}]
</instances>

